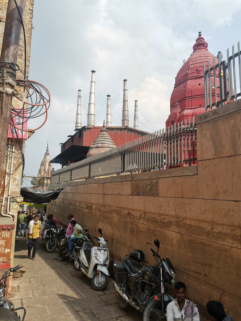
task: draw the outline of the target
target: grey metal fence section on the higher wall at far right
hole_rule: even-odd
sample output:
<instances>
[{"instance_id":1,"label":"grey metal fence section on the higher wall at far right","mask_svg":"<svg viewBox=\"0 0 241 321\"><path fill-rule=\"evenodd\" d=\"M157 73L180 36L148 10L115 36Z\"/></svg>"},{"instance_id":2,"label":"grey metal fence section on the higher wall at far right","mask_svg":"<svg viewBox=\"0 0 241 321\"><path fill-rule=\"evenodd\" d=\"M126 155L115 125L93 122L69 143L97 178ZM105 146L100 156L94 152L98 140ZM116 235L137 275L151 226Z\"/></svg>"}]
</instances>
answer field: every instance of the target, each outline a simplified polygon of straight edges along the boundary
<instances>
[{"instance_id":1,"label":"grey metal fence section on the higher wall at far right","mask_svg":"<svg viewBox=\"0 0 241 321\"><path fill-rule=\"evenodd\" d=\"M208 108L223 106L225 103L241 97L241 51L240 44L237 44L238 51L235 53L234 45L232 55L229 56L227 49L227 61L222 61L222 53L218 53L218 64L216 57L213 57L213 66L208 61L208 69L204 63L204 90L205 110Z\"/></svg>"}]
</instances>

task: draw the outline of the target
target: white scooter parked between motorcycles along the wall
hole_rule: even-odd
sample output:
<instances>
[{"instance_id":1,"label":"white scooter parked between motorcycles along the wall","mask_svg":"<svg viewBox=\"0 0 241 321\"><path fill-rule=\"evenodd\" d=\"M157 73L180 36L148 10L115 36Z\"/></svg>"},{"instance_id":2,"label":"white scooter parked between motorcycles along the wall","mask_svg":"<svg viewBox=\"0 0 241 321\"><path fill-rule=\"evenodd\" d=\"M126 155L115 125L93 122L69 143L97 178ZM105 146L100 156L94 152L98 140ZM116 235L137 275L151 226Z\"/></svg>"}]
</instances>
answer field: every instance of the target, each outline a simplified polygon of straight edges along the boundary
<instances>
[{"instance_id":1,"label":"white scooter parked between motorcycles along the wall","mask_svg":"<svg viewBox=\"0 0 241 321\"><path fill-rule=\"evenodd\" d=\"M110 274L107 270L110 262L108 240L102 237L101 228L98 229L101 237L94 237L100 246L85 243L75 259L75 267L83 275L92 279L92 286L96 291L103 291L109 283Z\"/></svg>"}]
</instances>

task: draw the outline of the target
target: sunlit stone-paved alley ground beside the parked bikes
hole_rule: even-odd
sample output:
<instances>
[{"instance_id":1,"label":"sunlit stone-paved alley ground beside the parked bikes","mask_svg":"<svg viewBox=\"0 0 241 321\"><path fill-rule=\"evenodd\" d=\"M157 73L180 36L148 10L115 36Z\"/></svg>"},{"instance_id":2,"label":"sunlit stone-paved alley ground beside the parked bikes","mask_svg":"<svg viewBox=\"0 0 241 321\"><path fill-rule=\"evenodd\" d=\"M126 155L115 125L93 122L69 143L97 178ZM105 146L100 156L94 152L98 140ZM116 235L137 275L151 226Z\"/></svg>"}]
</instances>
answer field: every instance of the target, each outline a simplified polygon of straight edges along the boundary
<instances>
[{"instance_id":1,"label":"sunlit stone-paved alley ground beside the parked bikes","mask_svg":"<svg viewBox=\"0 0 241 321\"><path fill-rule=\"evenodd\" d=\"M58 263L57 251L48 253L39 244L36 260L27 257L23 238L15 243L14 266L23 264L26 273L13 279L10 299L15 308L25 307L24 321L43 320L119 320L141 321L134 308L122 311L110 280L105 291L94 291L91 280L82 277L73 263Z\"/></svg>"}]
</instances>

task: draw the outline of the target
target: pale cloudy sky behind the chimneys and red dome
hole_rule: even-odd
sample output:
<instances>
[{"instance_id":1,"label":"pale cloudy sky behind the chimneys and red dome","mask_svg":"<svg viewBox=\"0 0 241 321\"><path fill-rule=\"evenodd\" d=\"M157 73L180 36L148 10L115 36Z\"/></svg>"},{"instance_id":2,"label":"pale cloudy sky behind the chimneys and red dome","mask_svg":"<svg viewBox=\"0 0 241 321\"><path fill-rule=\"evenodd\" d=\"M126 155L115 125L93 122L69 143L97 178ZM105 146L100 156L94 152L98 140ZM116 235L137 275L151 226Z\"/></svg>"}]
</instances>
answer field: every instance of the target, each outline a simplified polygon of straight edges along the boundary
<instances>
[{"instance_id":1,"label":"pale cloudy sky behind the chimneys and red dome","mask_svg":"<svg viewBox=\"0 0 241 321\"><path fill-rule=\"evenodd\" d=\"M29 79L48 87L52 98L47 123L26 141L24 174L37 175L47 142L54 158L73 133L78 89L86 125L93 69L97 126L105 119L107 94L112 125L121 125L126 78L130 126L138 100L139 128L164 127L175 76L198 31L210 52L221 50L226 57L227 48L241 40L240 11L239 0L34 0Z\"/></svg>"}]
</instances>

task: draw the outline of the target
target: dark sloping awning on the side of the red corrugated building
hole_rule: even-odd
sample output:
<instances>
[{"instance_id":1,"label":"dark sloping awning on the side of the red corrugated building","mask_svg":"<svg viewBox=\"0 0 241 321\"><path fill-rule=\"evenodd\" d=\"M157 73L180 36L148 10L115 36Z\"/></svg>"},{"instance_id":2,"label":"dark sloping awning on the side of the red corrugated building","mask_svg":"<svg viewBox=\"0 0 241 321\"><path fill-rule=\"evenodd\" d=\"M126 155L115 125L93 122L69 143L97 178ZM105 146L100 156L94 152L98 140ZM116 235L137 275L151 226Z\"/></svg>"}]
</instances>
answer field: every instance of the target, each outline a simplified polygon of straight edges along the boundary
<instances>
[{"instance_id":1,"label":"dark sloping awning on the side of the red corrugated building","mask_svg":"<svg viewBox=\"0 0 241 321\"><path fill-rule=\"evenodd\" d=\"M83 155L86 156L89 146L79 146L79 145L71 145L66 150L58 154L55 158L50 160L50 163L57 163L62 165L67 165L68 161L79 161L83 160Z\"/></svg>"}]
</instances>

